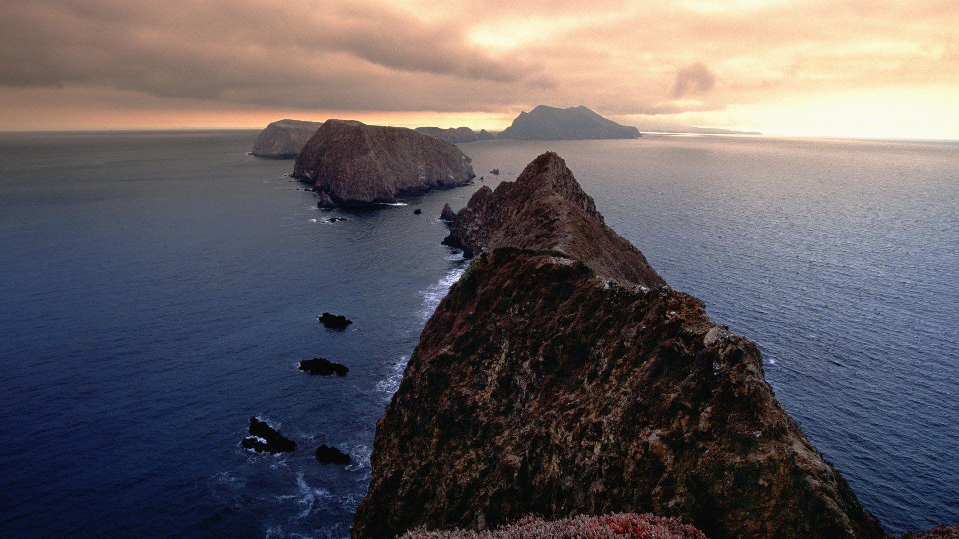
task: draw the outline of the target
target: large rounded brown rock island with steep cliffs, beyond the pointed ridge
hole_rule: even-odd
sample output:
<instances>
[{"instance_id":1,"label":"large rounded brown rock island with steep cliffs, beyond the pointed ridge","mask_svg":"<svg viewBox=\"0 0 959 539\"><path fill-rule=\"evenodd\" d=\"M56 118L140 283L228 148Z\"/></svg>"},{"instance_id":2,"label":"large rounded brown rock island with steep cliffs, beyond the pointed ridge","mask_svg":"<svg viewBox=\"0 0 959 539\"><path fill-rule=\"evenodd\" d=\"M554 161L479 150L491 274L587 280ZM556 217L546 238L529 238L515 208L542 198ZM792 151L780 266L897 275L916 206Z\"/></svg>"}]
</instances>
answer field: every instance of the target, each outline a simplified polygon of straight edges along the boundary
<instances>
[{"instance_id":1,"label":"large rounded brown rock island with steep cliffs, beyond the pointed ridge","mask_svg":"<svg viewBox=\"0 0 959 539\"><path fill-rule=\"evenodd\" d=\"M470 158L445 140L346 120L325 122L293 166L293 177L315 182L338 205L394 202L474 176Z\"/></svg>"}]
</instances>

